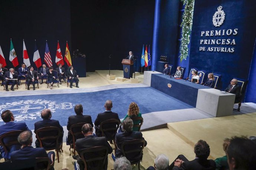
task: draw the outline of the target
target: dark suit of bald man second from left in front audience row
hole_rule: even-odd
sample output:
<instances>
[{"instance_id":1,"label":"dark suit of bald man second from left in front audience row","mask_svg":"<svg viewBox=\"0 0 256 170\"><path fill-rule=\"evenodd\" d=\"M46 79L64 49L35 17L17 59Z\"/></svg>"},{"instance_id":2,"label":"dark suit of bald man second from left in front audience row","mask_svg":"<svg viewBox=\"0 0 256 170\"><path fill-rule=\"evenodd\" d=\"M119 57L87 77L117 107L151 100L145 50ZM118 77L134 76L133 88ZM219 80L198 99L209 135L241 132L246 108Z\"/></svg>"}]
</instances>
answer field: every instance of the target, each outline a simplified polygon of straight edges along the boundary
<instances>
[{"instance_id":1,"label":"dark suit of bald man second from left in front audience row","mask_svg":"<svg viewBox=\"0 0 256 170\"><path fill-rule=\"evenodd\" d=\"M36 133L36 130L40 129L40 128L45 128L45 127L49 127L49 126L54 126L54 127L58 127L60 128L60 131L62 132L62 136L59 137L59 145L62 144L62 139L63 139L63 128L62 126L60 126L60 123L58 120L54 120L54 119L43 119L43 120L40 120L38 122L35 123L35 133ZM54 135L57 135L56 132L46 132L46 133L40 133L40 137L43 137L43 136L54 136ZM37 136L36 136L37 137ZM40 147L40 143L39 143L39 140L36 139L36 147ZM47 149L47 146L53 146L53 145L56 145L56 141L55 140L52 140L52 139L49 139L47 141L43 141L43 147Z\"/></svg>"}]
</instances>

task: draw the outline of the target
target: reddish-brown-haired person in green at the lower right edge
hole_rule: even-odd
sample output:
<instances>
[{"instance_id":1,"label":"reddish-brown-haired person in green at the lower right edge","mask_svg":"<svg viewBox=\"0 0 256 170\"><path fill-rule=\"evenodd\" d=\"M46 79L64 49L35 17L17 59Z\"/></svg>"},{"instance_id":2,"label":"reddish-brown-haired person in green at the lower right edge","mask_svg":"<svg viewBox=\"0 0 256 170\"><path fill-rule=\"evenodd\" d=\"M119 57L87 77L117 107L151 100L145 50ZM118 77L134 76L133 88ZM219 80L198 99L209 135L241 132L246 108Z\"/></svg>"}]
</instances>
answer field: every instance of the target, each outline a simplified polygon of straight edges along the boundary
<instances>
[{"instance_id":1,"label":"reddish-brown-haired person in green at the lower right edge","mask_svg":"<svg viewBox=\"0 0 256 170\"><path fill-rule=\"evenodd\" d=\"M227 170L229 169L229 164L227 163L227 147L229 146L230 139L226 138L223 142L223 150L225 152L225 156L216 158L214 162L216 163L216 170Z\"/></svg>"}]
</instances>

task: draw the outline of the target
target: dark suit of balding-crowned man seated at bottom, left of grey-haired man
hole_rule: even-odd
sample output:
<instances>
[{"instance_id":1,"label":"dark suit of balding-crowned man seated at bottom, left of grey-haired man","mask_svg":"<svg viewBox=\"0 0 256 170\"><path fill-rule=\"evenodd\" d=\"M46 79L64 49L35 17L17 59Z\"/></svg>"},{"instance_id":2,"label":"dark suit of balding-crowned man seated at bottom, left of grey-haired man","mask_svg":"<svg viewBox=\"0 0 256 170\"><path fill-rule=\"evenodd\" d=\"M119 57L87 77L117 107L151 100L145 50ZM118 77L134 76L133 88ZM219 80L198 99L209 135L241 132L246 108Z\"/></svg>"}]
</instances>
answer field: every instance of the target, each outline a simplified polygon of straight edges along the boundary
<instances>
[{"instance_id":1,"label":"dark suit of balding-crowned man seated at bottom, left of grey-haired man","mask_svg":"<svg viewBox=\"0 0 256 170\"><path fill-rule=\"evenodd\" d=\"M83 150L88 149L90 147L95 147L95 146L108 147L108 154L111 154L113 151L112 147L109 145L105 137L95 137L93 135L90 135L90 136L85 136L82 139L76 140L76 150L78 151L78 153L81 153ZM90 155L86 155L85 159L87 157L89 158ZM107 167L108 167L108 159L106 159L105 170L107 169Z\"/></svg>"}]
</instances>

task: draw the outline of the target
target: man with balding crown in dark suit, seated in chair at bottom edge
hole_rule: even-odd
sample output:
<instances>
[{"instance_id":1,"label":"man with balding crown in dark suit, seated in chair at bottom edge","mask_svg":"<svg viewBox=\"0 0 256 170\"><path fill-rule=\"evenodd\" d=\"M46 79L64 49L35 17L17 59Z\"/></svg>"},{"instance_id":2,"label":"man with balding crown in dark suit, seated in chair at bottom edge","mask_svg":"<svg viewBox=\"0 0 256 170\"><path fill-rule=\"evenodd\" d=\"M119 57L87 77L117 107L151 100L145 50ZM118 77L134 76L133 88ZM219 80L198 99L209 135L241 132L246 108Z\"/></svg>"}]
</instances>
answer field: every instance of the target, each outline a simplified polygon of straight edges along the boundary
<instances>
[{"instance_id":1,"label":"man with balding crown in dark suit, seated in chair at bottom edge","mask_svg":"<svg viewBox=\"0 0 256 170\"><path fill-rule=\"evenodd\" d=\"M88 149L90 147L95 147L95 146L106 146L108 147L108 154L112 153L113 149L109 145L105 137L93 136L93 128L89 123L86 123L85 125L83 125L82 133L85 137L82 139L76 140L76 150L78 151L78 153L81 153L83 150ZM87 156L90 157L90 155L87 155ZM84 169L83 162L80 160L79 157L78 157L78 163L79 163L80 169ZM105 170L107 169L107 167L108 167L108 159L106 159Z\"/></svg>"}]
</instances>

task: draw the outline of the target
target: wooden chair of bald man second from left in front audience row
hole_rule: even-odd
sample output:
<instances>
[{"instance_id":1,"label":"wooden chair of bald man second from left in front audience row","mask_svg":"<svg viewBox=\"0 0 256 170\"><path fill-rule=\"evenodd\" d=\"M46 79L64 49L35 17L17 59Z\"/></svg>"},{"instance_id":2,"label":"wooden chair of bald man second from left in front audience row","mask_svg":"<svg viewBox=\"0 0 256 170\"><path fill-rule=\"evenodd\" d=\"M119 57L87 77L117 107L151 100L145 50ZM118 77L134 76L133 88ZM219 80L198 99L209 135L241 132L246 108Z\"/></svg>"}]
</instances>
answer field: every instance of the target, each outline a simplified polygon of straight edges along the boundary
<instances>
[{"instance_id":1,"label":"wooden chair of bald man second from left in front audience row","mask_svg":"<svg viewBox=\"0 0 256 170\"><path fill-rule=\"evenodd\" d=\"M53 136L44 136L44 137L40 137L39 133L41 132L57 132L57 135L53 135ZM60 128L57 128L57 127L53 127L53 126L49 126L49 127L45 127L45 128L40 128L40 129L37 129L36 130L36 139L39 140L40 142L40 147L43 147L45 148L45 150L56 150L57 152L57 158L58 158L58 163L59 163L59 149L62 150L62 143L61 145L59 145L59 137L62 137L62 132L60 132ZM56 145L54 146L43 146L43 142L44 140L49 140L49 139L52 139L52 140L55 140L56 141ZM63 152L63 150L62 150Z\"/></svg>"}]
</instances>

